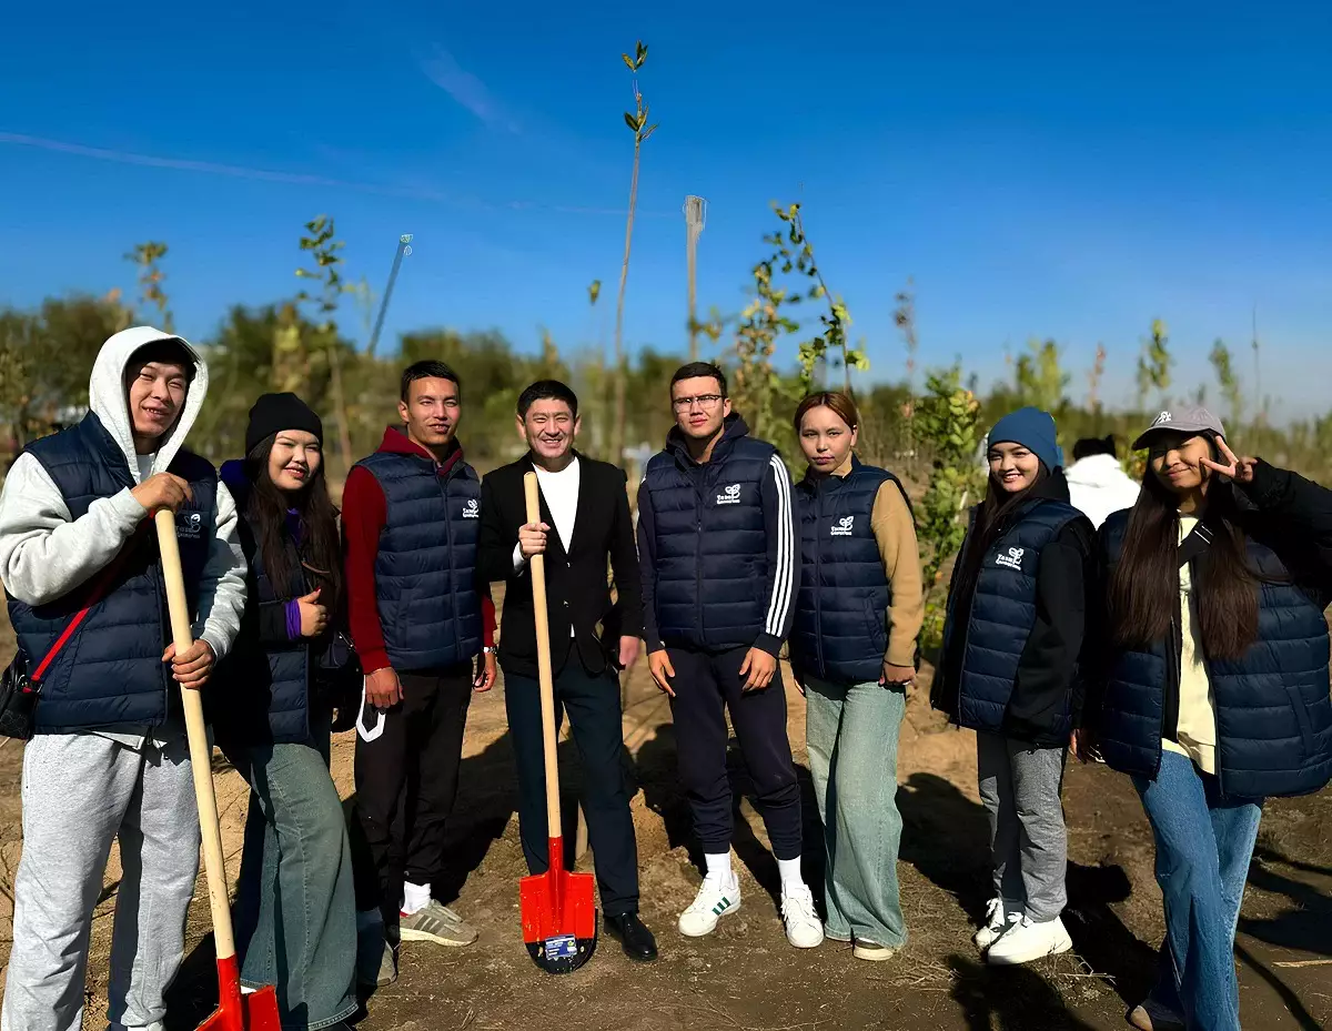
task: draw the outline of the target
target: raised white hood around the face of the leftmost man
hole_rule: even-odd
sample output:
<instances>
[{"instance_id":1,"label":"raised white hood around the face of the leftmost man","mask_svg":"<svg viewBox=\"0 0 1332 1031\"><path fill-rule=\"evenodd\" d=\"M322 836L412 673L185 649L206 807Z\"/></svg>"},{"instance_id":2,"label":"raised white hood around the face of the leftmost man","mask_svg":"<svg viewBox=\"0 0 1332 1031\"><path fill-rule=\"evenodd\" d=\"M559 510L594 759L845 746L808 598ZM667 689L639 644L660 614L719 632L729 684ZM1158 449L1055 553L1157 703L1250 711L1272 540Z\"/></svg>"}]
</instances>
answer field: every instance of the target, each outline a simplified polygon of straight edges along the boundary
<instances>
[{"instance_id":1,"label":"raised white hood around the face of the leftmost man","mask_svg":"<svg viewBox=\"0 0 1332 1031\"><path fill-rule=\"evenodd\" d=\"M125 366L136 350L148 344L161 340L170 340L185 348L185 352L194 362L194 378L189 384L185 394L185 406L176 418L166 436L163 437L153 460L153 473L163 473L170 465L189 433L198 412L204 406L204 397L208 394L208 365L202 356L194 350L193 345L184 337L166 333L153 326L131 326L109 337L97 352L97 360L92 365L92 377L88 380L88 406L101 420L101 425L115 437L120 449L129 462L129 474L135 482L141 482L139 476L139 462L135 458L133 422L129 417L129 401L125 392Z\"/></svg>"}]
</instances>

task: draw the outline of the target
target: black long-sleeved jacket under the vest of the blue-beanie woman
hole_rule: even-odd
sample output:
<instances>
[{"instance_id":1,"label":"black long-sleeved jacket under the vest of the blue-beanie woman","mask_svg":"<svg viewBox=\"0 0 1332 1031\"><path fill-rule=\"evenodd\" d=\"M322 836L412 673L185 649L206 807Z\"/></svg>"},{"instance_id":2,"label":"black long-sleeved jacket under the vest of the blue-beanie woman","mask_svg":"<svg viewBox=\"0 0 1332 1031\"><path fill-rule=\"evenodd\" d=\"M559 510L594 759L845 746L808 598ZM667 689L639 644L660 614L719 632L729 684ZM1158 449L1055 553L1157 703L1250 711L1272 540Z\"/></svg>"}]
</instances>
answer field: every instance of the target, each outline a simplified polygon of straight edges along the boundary
<instances>
[{"instance_id":1,"label":"black long-sleeved jacket under the vest of the blue-beanie woman","mask_svg":"<svg viewBox=\"0 0 1332 1031\"><path fill-rule=\"evenodd\" d=\"M1062 469L1038 484L1027 502L1015 509L1004 525L999 527L995 545L1014 530L1026 516L1036 508L1055 502L1062 509L1068 508L1068 482ZM944 654L935 675L931 702L936 709L948 713L963 726L1003 733L1018 741L1026 741L1042 747L1054 747L1068 741L1068 730L1078 719L1083 703L1083 681L1080 675L1084 629L1087 625L1088 598L1095 597L1095 543L1091 522L1078 514L1067 518L1055 535L1039 553L1035 570L1032 607L1020 607L1022 625L1011 627L1014 633L1026 633L1026 642L1016 662L1010 691L1004 691L1002 715L984 726L962 718L963 681L967 670L968 634L964 630L972 621L975 585L968 597L959 597L958 573L967 553L976 546L974 533L967 533L954 583L948 597L948 619L944 633ZM987 555L986 562L994 559ZM1007 559L1004 559L1007 561ZM999 613L986 614L987 625L1010 629ZM976 643L976 642L972 642ZM987 653L984 661L992 663L994 654ZM980 658L976 659L980 663ZM987 667L970 670L984 677ZM1007 685L1004 685L1007 687Z\"/></svg>"}]
</instances>

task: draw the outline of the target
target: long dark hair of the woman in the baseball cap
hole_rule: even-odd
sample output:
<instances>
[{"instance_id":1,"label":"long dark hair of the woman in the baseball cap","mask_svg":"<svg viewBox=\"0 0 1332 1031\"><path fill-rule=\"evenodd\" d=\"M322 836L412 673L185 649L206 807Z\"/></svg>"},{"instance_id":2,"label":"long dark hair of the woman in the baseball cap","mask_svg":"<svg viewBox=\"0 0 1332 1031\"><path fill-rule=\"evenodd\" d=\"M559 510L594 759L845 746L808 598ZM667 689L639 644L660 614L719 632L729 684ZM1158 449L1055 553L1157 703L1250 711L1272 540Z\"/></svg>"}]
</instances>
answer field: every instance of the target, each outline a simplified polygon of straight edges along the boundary
<instances>
[{"instance_id":1,"label":"long dark hair of the woman in the baseball cap","mask_svg":"<svg viewBox=\"0 0 1332 1031\"><path fill-rule=\"evenodd\" d=\"M1212 453L1215 458L1215 441ZM1236 659L1257 637L1259 577L1247 559L1233 492L1215 480L1209 488L1204 521L1212 542L1197 558L1193 583L1199 630L1208 658ZM1179 498L1148 469L1110 578L1111 639L1120 647L1164 639L1177 602Z\"/></svg>"}]
</instances>

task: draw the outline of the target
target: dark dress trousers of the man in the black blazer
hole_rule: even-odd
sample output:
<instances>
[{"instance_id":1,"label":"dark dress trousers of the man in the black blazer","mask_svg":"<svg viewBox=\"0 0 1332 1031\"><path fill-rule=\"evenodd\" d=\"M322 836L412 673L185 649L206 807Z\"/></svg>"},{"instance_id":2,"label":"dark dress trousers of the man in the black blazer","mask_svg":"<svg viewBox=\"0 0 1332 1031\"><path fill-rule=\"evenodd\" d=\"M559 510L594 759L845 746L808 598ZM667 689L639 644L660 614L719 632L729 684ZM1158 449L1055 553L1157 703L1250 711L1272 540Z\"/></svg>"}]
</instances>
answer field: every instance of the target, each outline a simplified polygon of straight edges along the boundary
<instances>
[{"instance_id":1,"label":"dark dress trousers of the man in the black blazer","mask_svg":"<svg viewBox=\"0 0 1332 1031\"><path fill-rule=\"evenodd\" d=\"M505 674L505 709L518 766L518 830L527 870L547 863L546 766L541 739L541 687L530 677ZM602 912L638 912L638 843L629 814L629 790L619 757L623 731L619 681L614 673L593 677L577 655L555 677L555 729L565 710L583 762L583 814L597 857ZM566 854L571 854L567 850Z\"/></svg>"}]
</instances>

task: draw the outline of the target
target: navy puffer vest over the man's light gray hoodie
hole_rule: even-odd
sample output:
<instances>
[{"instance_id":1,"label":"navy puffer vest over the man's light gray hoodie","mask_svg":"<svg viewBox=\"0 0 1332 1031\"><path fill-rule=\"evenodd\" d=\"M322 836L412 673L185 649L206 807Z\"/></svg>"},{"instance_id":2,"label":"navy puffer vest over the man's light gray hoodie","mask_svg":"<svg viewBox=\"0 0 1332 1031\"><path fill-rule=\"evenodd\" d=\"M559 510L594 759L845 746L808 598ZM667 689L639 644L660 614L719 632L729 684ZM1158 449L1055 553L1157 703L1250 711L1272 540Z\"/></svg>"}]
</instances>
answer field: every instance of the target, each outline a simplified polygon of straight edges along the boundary
<instances>
[{"instance_id":1,"label":"navy puffer vest over the man's light gray hoodie","mask_svg":"<svg viewBox=\"0 0 1332 1031\"><path fill-rule=\"evenodd\" d=\"M27 452L51 476L73 519L87 514L99 498L135 486L124 452L95 413L77 426L35 441ZM188 481L193 493L176 514L185 593L193 613L214 534L217 474L209 462L185 450L177 453L169 472ZM116 571L111 591L92 606L43 678L37 733L136 730L164 723L174 709L174 681L161 661L170 638L166 594L157 538L147 516L127 547L132 550ZM9 598L9 621L29 670L36 670L99 579L96 573L64 598L37 607Z\"/></svg>"}]
</instances>

